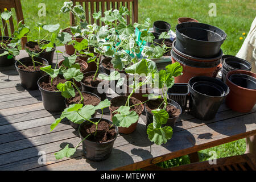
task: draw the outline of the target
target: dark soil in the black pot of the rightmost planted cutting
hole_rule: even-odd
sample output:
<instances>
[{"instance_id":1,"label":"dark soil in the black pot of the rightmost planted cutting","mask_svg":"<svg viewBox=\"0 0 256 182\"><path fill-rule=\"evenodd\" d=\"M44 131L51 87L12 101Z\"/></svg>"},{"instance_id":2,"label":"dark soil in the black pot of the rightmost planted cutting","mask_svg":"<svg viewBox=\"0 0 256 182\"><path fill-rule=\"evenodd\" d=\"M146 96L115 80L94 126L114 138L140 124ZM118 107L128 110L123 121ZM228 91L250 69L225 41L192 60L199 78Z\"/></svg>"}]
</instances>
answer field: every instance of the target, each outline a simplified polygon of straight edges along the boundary
<instances>
[{"instance_id":1,"label":"dark soil in the black pot of the rightmost planted cutting","mask_svg":"<svg viewBox=\"0 0 256 182\"><path fill-rule=\"evenodd\" d=\"M155 110L155 109L158 109L159 105L163 102L163 99L161 98L158 98L156 100L150 100L150 101L147 101L146 104L145 104L145 107L147 109L147 111L149 111L150 113L151 110ZM163 104L162 106L160 107L160 109L163 109ZM169 114L169 117L170 118L174 118L174 117L177 117L178 115L180 115L180 110L177 109L177 107L173 106L173 105L167 105L166 107L166 111L167 113Z\"/></svg>"}]
</instances>

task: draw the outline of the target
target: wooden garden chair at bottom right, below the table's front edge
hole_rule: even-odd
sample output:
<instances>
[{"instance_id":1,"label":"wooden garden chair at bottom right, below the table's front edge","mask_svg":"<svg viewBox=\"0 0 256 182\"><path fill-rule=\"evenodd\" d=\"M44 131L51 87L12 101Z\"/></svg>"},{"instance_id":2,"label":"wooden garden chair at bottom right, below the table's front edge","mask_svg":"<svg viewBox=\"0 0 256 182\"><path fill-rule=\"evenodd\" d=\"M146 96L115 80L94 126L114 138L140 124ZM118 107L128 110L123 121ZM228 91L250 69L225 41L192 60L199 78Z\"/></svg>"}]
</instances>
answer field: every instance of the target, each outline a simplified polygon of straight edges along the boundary
<instances>
[{"instance_id":1,"label":"wooden garden chair at bottom right, below the table's front edge","mask_svg":"<svg viewBox=\"0 0 256 182\"><path fill-rule=\"evenodd\" d=\"M142 169L146 171L255 171L256 160L251 154L243 154L216 159L216 164L209 164L207 160L167 169L155 165Z\"/></svg>"}]
</instances>

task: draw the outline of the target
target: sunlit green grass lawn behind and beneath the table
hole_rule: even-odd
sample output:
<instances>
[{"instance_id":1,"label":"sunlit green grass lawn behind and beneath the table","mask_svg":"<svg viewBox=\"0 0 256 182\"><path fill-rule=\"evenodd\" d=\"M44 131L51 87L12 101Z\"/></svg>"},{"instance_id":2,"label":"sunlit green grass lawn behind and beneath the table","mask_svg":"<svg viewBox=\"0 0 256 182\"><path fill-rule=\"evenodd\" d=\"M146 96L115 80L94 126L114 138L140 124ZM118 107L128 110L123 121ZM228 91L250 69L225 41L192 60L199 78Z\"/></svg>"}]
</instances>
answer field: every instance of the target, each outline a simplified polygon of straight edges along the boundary
<instances>
[{"instance_id":1,"label":"sunlit green grass lawn behind and beneath the table","mask_svg":"<svg viewBox=\"0 0 256 182\"><path fill-rule=\"evenodd\" d=\"M65 0L21 0L24 15L24 22L33 27L35 23L56 24L61 28L69 26L69 15L60 13L60 8ZM210 17L209 3L216 3L217 16ZM46 4L46 17L39 17L39 3ZM188 16L219 27L226 32L228 38L222 45L225 54L236 55L242 46L245 36L250 30L251 23L255 18L256 3L254 0L139 0L139 22L150 17L152 22L164 20L171 24L172 31L175 31L177 18ZM36 30L32 30L31 35L36 37ZM240 37L243 37L240 40ZM31 38L28 38L31 40ZM58 44L59 46L60 44ZM216 157L239 155L245 152L245 139L223 144L221 146L209 148L199 152L200 160L209 159L209 151L215 151ZM162 167L178 166L189 163L188 156L168 160L160 163Z\"/></svg>"}]
</instances>

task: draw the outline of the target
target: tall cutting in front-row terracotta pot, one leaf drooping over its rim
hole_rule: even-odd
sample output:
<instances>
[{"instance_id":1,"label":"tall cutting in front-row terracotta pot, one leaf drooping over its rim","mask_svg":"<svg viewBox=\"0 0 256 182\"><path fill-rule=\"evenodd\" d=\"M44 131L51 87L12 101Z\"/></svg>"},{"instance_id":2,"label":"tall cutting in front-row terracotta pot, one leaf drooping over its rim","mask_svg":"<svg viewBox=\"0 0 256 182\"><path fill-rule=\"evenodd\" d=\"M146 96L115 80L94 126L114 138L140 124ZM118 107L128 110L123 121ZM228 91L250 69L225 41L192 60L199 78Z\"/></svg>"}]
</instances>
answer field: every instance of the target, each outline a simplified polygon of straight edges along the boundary
<instances>
[{"instance_id":1,"label":"tall cutting in front-row terracotta pot, one leaf drooping over its rim","mask_svg":"<svg viewBox=\"0 0 256 182\"><path fill-rule=\"evenodd\" d=\"M154 61L146 59L131 65L125 71L134 76L133 90L129 96L119 96L110 100L111 105L109 109L112 121L115 126L119 127L119 132L131 133L136 129L139 115L141 115L144 109L142 104L146 102L141 102L132 96L141 86L146 85L148 80L152 78L152 75L158 71ZM139 81L142 75L146 76L146 79Z\"/></svg>"}]
</instances>

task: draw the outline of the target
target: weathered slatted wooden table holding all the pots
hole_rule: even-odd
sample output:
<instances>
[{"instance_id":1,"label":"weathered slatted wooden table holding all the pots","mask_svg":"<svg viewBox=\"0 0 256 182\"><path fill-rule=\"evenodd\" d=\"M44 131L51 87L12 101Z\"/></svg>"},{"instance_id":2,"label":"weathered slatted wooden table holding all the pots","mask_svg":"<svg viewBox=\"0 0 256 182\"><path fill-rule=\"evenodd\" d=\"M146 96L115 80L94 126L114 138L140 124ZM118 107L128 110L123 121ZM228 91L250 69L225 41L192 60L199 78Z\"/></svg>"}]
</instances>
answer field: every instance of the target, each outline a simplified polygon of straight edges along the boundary
<instances>
[{"instance_id":1,"label":"weathered slatted wooden table holding all the pots","mask_svg":"<svg viewBox=\"0 0 256 182\"><path fill-rule=\"evenodd\" d=\"M63 51L64 47L58 47ZM27 56L24 51L16 57ZM55 55L56 61L56 55ZM61 59L60 59L61 60ZM109 96L111 97L111 95ZM138 169L164 160L232 142L256 134L256 107L250 113L237 113L221 105L216 117L200 121L184 113L174 127L174 134L162 146L147 139L145 115L141 115L132 134L119 135L112 155L103 162L86 160L81 146L72 158L56 160L54 153L67 143L81 140L67 121L50 133L50 125L60 113L44 110L39 90L20 86L14 66L0 68L0 170L109 170ZM109 119L107 111L104 115ZM39 152L40 151L40 152ZM38 160L46 154L46 164Z\"/></svg>"}]
</instances>

